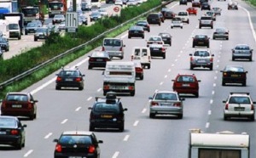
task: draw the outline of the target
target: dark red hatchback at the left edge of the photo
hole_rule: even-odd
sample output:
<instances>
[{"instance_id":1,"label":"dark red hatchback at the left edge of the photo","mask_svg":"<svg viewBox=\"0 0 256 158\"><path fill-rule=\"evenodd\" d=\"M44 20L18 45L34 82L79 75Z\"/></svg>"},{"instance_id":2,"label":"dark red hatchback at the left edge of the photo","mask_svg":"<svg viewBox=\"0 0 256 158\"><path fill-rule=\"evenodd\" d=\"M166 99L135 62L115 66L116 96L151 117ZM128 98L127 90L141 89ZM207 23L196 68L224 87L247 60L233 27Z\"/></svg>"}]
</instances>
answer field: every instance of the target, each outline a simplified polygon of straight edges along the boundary
<instances>
[{"instance_id":1,"label":"dark red hatchback at the left edge of the photo","mask_svg":"<svg viewBox=\"0 0 256 158\"><path fill-rule=\"evenodd\" d=\"M2 116L26 116L37 118L37 103L31 93L10 92L2 100Z\"/></svg>"}]
</instances>

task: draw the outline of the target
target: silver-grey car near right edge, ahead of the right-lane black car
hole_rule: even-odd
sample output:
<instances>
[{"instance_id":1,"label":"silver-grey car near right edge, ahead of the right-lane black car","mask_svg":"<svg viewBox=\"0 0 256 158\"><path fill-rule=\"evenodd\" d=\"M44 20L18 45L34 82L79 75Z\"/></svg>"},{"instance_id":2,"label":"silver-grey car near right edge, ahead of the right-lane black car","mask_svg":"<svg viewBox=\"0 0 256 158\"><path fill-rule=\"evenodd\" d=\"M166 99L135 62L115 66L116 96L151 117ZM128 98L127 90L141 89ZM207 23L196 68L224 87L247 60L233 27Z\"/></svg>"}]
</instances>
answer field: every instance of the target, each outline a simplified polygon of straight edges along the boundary
<instances>
[{"instance_id":1,"label":"silver-grey car near right edge, ahead of the right-lane black car","mask_svg":"<svg viewBox=\"0 0 256 158\"><path fill-rule=\"evenodd\" d=\"M235 48L232 49L232 60L235 59L249 59L253 60L253 49L247 44L237 44Z\"/></svg>"}]
</instances>

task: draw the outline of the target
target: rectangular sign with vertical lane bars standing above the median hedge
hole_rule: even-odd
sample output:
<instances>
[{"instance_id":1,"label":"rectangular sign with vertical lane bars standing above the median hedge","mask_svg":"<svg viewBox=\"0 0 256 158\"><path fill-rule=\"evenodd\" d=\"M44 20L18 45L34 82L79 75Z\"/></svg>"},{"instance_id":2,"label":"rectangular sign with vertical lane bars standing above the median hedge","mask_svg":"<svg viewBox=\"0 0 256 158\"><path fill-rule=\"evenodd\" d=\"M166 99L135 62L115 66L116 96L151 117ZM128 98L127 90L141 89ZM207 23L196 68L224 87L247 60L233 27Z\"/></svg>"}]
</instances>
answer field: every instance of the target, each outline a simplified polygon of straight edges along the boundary
<instances>
[{"instance_id":1,"label":"rectangular sign with vertical lane bars standing above the median hedge","mask_svg":"<svg viewBox=\"0 0 256 158\"><path fill-rule=\"evenodd\" d=\"M77 12L67 12L65 26L67 32L76 32L79 27L79 14Z\"/></svg>"}]
</instances>

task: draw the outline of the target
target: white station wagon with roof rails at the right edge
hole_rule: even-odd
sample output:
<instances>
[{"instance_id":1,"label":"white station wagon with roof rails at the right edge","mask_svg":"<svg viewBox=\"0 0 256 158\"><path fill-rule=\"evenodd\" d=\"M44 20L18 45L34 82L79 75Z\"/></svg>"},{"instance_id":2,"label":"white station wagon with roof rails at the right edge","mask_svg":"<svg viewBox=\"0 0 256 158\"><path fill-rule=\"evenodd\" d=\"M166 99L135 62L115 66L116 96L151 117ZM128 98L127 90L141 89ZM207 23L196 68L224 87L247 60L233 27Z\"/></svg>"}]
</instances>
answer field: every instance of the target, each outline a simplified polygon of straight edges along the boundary
<instances>
[{"instance_id":1,"label":"white station wagon with roof rails at the right edge","mask_svg":"<svg viewBox=\"0 0 256 158\"><path fill-rule=\"evenodd\" d=\"M250 93L230 93L224 103L224 120L231 117L247 117L251 121L255 120L254 102Z\"/></svg>"}]
</instances>

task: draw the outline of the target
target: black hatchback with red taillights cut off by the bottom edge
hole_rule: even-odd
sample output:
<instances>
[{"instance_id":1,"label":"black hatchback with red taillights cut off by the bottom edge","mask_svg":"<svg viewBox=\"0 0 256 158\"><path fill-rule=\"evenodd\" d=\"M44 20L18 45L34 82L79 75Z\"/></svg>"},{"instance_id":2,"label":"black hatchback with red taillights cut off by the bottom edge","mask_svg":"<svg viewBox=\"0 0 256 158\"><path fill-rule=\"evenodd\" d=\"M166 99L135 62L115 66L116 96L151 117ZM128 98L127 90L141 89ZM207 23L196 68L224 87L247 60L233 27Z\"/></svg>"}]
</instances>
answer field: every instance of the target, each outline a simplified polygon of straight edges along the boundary
<instances>
[{"instance_id":1,"label":"black hatchback with red taillights cut off by the bottom edge","mask_svg":"<svg viewBox=\"0 0 256 158\"><path fill-rule=\"evenodd\" d=\"M55 158L100 158L101 150L96 135L87 131L66 131L55 138Z\"/></svg>"}]
</instances>

